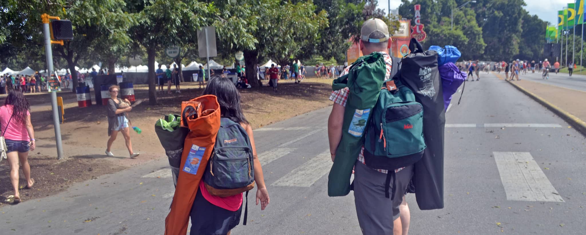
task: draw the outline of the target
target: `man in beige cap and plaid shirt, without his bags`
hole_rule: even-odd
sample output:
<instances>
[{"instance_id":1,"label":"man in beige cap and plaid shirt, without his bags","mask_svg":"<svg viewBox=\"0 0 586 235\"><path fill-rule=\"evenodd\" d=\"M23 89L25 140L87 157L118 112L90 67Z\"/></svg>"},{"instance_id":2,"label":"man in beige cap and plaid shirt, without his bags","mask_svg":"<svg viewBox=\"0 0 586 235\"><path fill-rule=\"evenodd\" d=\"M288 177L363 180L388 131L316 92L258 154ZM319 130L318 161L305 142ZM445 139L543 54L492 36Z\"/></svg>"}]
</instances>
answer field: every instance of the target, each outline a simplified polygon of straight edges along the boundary
<instances>
[{"instance_id":1,"label":"man in beige cap and plaid shirt, without his bags","mask_svg":"<svg viewBox=\"0 0 586 235\"><path fill-rule=\"evenodd\" d=\"M391 79L392 58L388 51L391 46L389 27L381 19L369 19L365 21L360 30L360 50L363 55L381 53L387 65L385 81ZM340 74L343 76L350 70L346 67ZM335 159L336 149L342 139L343 116L346 100L349 95L348 88L333 91L330 100L334 102L332 113L328 119L328 137L332 161ZM407 185L413 176L413 165L394 170L396 172L396 189L393 199L385 196L387 171L372 169L364 164L364 147L357 156L354 166L354 200L356 215L363 234L393 234L393 228L401 234L401 220L399 219L399 205L403 201ZM393 184L390 183L391 189ZM395 233L397 234L397 233Z\"/></svg>"}]
</instances>

